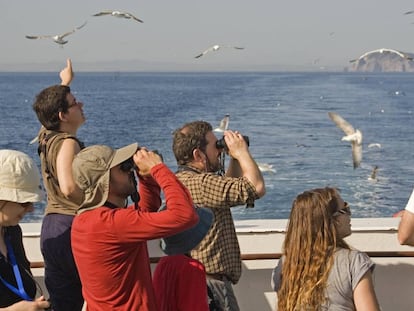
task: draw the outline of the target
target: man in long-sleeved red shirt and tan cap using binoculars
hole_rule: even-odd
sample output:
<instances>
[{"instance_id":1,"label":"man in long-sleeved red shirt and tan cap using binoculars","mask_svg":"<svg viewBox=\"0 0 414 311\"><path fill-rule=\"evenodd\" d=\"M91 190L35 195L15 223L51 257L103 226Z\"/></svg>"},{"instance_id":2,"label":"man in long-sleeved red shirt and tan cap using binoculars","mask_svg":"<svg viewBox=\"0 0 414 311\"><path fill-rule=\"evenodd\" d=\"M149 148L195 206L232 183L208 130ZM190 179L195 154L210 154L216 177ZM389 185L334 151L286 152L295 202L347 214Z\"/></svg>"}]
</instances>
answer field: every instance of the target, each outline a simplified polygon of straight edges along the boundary
<instances>
[{"instance_id":1,"label":"man in long-sleeved red shirt and tan cap using binoculars","mask_svg":"<svg viewBox=\"0 0 414 311\"><path fill-rule=\"evenodd\" d=\"M73 161L85 195L73 221L72 249L87 310L157 310L146 241L198 222L188 190L161 157L137 149L91 146ZM161 205L161 190L167 208L151 213ZM129 196L135 204L127 206Z\"/></svg>"}]
</instances>

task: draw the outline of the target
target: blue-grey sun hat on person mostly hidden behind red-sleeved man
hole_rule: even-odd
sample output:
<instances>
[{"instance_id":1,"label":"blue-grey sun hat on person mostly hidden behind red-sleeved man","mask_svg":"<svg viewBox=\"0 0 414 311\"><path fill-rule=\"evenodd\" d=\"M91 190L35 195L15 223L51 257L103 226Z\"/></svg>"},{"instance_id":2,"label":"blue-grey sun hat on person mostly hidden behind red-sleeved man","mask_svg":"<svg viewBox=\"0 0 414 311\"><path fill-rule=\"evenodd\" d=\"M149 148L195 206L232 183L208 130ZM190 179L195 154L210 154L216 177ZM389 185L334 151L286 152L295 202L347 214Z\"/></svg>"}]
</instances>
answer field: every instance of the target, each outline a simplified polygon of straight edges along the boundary
<instances>
[{"instance_id":1,"label":"blue-grey sun hat on person mostly hidden behind red-sleeved man","mask_svg":"<svg viewBox=\"0 0 414 311\"><path fill-rule=\"evenodd\" d=\"M166 207L160 208L160 212ZM209 208L195 207L199 221L190 229L161 239L161 249L167 255L186 254L203 240L214 220L214 214Z\"/></svg>"}]
</instances>

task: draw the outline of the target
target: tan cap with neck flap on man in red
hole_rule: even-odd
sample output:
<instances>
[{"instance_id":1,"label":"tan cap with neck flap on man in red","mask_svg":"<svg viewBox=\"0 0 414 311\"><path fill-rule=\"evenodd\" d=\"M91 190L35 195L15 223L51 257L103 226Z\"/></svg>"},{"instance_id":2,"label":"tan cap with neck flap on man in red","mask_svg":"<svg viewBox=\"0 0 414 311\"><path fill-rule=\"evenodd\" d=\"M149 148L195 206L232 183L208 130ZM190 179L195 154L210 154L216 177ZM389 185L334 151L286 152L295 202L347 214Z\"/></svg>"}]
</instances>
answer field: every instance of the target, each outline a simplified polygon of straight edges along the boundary
<instances>
[{"instance_id":1,"label":"tan cap with neck flap on man in red","mask_svg":"<svg viewBox=\"0 0 414 311\"><path fill-rule=\"evenodd\" d=\"M108 199L109 171L134 155L138 144L119 149L93 145L82 149L73 159L72 173L77 186L84 192L78 213L102 206Z\"/></svg>"}]
</instances>

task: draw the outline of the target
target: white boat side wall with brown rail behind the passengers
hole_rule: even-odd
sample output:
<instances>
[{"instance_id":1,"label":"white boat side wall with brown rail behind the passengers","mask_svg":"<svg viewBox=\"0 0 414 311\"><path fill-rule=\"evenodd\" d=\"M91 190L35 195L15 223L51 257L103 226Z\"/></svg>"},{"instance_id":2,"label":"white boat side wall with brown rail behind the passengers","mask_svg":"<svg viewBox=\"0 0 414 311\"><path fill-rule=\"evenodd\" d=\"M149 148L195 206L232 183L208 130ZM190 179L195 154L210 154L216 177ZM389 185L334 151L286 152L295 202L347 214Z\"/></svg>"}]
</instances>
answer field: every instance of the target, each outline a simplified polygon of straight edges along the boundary
<instances>
[{"instance_id":1,"label":"white boat side wall with brown rail behind the passengers","mask_svg":"<svg viewBox=\"0 0 414 311\"><path fill-rule=\"evenodd\" d=\"M272 269L282 252L287 220L236 221L243 271L235 292L242 311L275 310L276 294L270 287ZM414 310L414 247L397 240L399 218L352 219L347 242L367 252L376 263L374 285L382 310ZM39 249L40 224L22 224L24 244L32 271L43 285ZM152 268L163 256L158 240L148 243ZM37 267L37 268L36 268ZM43 285L44 286L44 285Z\"/></svg>"}]
</instances>

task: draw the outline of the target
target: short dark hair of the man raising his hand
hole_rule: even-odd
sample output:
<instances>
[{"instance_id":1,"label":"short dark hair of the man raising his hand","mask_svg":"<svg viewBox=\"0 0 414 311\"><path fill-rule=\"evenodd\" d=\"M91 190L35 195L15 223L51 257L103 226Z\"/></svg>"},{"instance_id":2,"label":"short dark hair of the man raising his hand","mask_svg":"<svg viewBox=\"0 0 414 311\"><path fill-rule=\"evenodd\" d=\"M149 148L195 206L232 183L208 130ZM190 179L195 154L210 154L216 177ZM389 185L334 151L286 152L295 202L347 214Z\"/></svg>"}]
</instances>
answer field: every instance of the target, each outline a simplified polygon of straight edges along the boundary
<instances>
[{"instance_id":1,"label":"short dark hair of the man raising his hand","mask_svg":"<svg viewBox=\"0 0 414 311\"><path fill-rule=\"evenodd\" d=\"M54 85L42 90L33 104L40 123L48 130L59 129L59 112L67 112L69 103L66 96L70 93L70 87L66 85Z\"/></svg>"}]
</instances>

